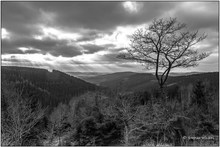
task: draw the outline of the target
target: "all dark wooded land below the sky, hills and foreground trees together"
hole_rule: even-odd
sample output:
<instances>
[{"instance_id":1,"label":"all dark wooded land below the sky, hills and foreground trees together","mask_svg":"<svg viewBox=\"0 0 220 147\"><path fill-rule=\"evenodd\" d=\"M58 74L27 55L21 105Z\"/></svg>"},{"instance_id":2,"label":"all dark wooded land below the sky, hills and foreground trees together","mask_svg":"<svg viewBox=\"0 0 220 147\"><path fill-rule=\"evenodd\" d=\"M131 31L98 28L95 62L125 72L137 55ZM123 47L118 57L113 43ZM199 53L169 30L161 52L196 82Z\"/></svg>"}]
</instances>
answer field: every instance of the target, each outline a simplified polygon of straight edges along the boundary
<instances>
[{"instance_id":1,"label":"all dark wooded land below the sky, hills and foreground trees together","mask_svg":"<svg viewBox=\"0 0 220 147\"><path fill-rule=\"evenodd\" d=\"M164 100L152 74L101 75L103 88L56 70L1 68L2 145L219 145L217 72L169 77Z\"/></svg>"}]
</instances>

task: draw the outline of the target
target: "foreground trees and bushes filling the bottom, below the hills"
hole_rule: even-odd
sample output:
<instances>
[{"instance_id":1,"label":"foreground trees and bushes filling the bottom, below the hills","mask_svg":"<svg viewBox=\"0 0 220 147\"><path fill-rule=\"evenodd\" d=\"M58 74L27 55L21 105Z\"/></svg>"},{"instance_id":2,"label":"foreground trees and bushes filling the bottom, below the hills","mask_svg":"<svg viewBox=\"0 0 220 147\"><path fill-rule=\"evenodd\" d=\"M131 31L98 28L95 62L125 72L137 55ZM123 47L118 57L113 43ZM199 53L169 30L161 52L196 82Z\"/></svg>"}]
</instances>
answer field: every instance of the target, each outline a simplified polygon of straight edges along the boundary
<instances>
[{"instance_id":1,"label":"foreground trees and bushes filling the bottom, below the hills","mask_svg":"<svg viewBox=\"0 0 220 147\"><path fill-rule=\"evenodd\" d=\"M207 81L167 87L165 99L157 90L88 92L50 113L27 93L2 82L2 145L219 145L218 89Z\"/></svg>"}]
</instances>

